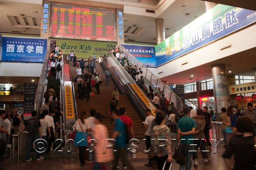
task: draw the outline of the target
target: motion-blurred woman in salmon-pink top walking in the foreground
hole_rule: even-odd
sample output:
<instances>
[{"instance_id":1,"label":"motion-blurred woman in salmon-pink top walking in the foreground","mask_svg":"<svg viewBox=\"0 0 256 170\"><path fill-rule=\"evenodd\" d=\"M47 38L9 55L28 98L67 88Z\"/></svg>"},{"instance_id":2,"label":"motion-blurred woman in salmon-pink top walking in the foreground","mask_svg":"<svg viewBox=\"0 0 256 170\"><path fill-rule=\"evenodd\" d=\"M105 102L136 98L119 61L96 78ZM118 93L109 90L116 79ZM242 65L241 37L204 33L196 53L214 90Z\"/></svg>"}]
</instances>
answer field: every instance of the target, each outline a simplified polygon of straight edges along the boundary
<instances>
[{"instance_id":1,"label":"motion-blurred woman in salmon-pink top walking in the foreground","mask_svg":"<svg viewBox=\"0 0 256 170\"><path fill-rule=\"evenodd\" d=\"M109 162L113 160L113 150L107 149L106 154L103 154L104 144L107 138L109 138L109 134L107 131L107 127L101 124L103 116L100 113L95 114L95 126L93 129L94 138L97 141L96 150L95 150L95 162L93 165L93 170L105 170L106 165L105 162ZM106 142L107 144L107 142Z\"/></svg>"}]
</instances>

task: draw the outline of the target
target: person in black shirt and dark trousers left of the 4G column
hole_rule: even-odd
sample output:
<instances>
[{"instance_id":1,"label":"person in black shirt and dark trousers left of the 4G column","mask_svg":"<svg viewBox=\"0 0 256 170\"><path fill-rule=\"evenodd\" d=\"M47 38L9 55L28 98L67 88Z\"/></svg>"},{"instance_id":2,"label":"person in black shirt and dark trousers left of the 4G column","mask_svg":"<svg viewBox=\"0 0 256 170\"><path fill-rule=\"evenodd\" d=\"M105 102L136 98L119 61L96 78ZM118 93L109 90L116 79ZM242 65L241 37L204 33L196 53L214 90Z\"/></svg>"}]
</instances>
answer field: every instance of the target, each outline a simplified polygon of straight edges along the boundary
<instances>
[{"instance_id":1,"label":"person in black shirt and dark trousers left of the 4G column","mask_svg":"<svg viewBox=\"0 0 256 170\"><path fill-rule=\"evenodd\" d=\"M208 112L208 107L203 107L204 114L202 118L206 120L206 126L204 127L204 136L206 137L206 142L208 143L208 148L212 148L212 144L210 142L210 129L212 128L212 117L211 114Z\"/></svg>"}]
</instances>

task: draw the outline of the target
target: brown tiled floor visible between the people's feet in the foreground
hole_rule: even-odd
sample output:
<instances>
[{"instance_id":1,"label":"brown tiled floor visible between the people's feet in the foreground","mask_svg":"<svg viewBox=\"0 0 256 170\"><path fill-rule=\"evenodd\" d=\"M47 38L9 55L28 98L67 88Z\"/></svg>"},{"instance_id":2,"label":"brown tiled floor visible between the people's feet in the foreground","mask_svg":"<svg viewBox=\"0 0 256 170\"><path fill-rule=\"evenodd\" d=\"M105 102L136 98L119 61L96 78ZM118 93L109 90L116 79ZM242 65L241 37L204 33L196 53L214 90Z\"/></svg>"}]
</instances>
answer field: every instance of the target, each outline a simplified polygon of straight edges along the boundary
<instances>
[{"instance_id":1,"label":"brown tiled floor visible between the people's feet in the foreground","mask_svg":"<svg viewBox=\"0 0 256 170\"><path fill-rule=\"evenodd\" d=\"M214 154L213 151L210 152L209 158L211 162L209 164L204 164L202 156L199 155L198 160L198 170L228 170L228 166L232 166L233 161L224 160L222 158L222 153L224 152L224 147L221 145L217 153ZM34 154L32 154L33 156ZM4 170L81 170L81 169L91 169L92 163L86 162L86 165L82 168L79 165L79 161L74 153L72 158L67 157L65 154L54 154L54 155L44 155L44 160L36 161L35 157L32 157L31 162L25 162L24 158L20 162L12 162L12 156L4 158L0 161L0 169ZM155 170L155 167L146 167L144 164L147 162L147 155L142 152L136 154L136 158L129 158L136 170ZM107 163L107 168L110 169L110 162ZM194 164L194 161L192 161ZM123 169L122 166L119 170ZM173 162L172 170L179 170L179 164L175 161ZM191 170L195 168L192 166Z\"/></svg>"}]
</instances>

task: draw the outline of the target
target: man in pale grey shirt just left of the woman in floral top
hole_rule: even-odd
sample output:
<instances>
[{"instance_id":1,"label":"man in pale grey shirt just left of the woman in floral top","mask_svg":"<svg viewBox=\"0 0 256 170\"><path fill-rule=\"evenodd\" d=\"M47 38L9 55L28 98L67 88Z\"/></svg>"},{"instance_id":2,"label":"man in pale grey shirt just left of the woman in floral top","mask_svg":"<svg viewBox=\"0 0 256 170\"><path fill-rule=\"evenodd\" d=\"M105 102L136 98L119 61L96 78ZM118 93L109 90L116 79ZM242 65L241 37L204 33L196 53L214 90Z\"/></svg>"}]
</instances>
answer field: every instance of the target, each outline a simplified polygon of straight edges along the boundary
<instances>
[{"instance_id":1,"label":"man in pale grey shirt just left of the woman in floral top","mask_svg":"<svg viewBox=\"0 0 256 170\"><path fill-rule=\"evenodd\" d=\"M146 136L146 147L148 150L151 146L151 136L152 136L153 127L155 124L154 123L155 117L152 115L152 112L150 109L146 109L146 113L147 113L147 117L144 122L144 127L147 128L147 130L145 132L145 136ZM144 165L145 166L153 166L153 163L152 163L153 160L154 160L154 158L149 158L149 162Z\"/></svg>"}]
</instances>

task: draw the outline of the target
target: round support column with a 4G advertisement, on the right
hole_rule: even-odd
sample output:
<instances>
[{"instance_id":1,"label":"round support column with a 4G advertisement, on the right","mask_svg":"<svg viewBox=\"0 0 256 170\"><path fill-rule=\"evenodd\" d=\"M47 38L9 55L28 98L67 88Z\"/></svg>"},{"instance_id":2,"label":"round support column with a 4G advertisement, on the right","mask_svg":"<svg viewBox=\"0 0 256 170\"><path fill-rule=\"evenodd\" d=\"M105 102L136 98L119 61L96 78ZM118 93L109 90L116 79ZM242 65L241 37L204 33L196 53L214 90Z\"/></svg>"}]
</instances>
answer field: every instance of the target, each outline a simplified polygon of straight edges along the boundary
<instances>
[{"instance_id":1,"label":"round support column with a 4G advertisement, on the right","mask_svg":"<svg viewBox=\"0 0 256 170\"><path fill-rule=\"evenodd\" d=\"M228 85L225 64L212 65L216 120L219 121L222 107L228 108Z\"/></svg>"}]
</instances>

